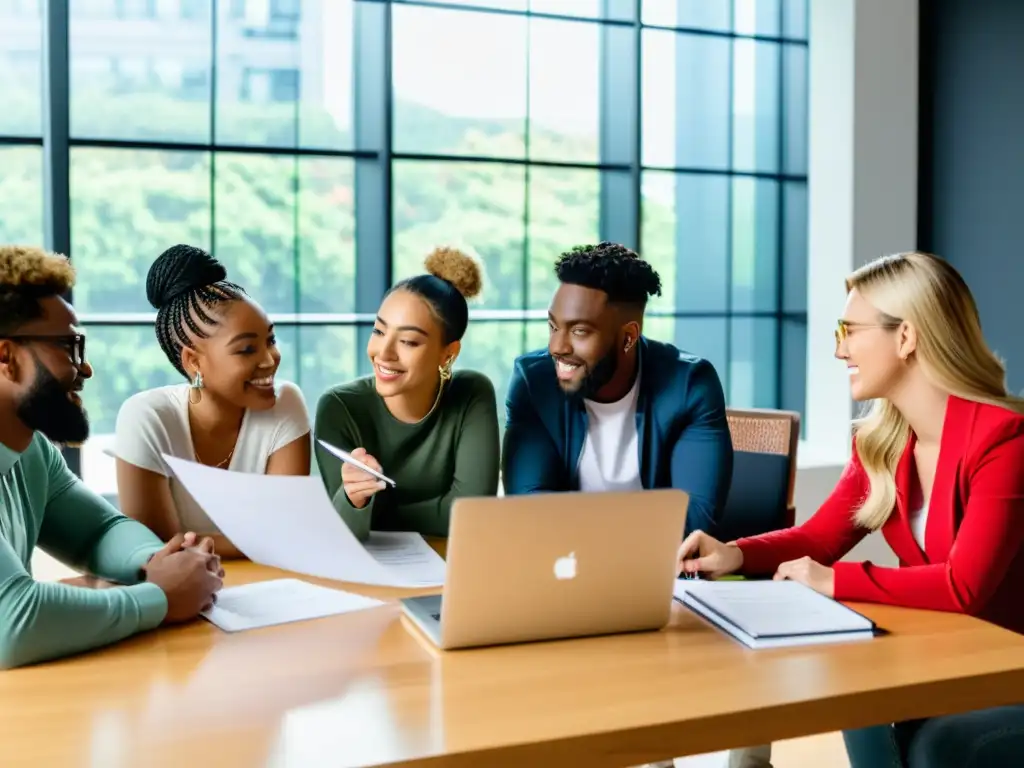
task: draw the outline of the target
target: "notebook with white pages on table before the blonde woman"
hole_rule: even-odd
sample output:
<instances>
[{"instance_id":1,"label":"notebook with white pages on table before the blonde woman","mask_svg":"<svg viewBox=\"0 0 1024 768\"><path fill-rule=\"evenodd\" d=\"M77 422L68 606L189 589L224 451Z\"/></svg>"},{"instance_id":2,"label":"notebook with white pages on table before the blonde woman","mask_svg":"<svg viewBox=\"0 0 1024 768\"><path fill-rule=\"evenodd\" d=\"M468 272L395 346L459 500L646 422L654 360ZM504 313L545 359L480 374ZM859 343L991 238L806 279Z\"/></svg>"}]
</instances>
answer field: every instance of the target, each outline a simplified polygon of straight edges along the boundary
<instances>
[{"instance_id":1,"label":"notebook with white pages on table before the blonde woman","mask_svg":"<svg viewBox=\"0 0 1024 768\"><path fill-rule=\"evenodd\" d=\"M865 640L874 623L798 582L680 579L683 605L751 648Z\"/></svg>"}]
</instances>

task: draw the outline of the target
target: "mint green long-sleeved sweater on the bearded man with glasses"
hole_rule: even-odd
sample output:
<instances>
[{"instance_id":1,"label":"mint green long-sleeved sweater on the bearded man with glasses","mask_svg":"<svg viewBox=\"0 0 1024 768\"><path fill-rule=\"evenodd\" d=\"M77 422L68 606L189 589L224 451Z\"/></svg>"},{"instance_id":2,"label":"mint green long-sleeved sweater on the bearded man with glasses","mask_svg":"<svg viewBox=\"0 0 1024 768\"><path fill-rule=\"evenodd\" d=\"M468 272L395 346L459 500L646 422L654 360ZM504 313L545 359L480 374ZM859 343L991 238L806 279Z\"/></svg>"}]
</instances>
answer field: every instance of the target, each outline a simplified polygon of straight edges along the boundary
<instances>
[{"instance_id":1,"label":"mint green long-sleeved sweater on the bearded man with glasses","mask_svg":"<svg viewBox=\"0 0 1024 768\"><path fill-rule=\"evenodd\" d=\"M130 587L36 582L36 545L78 569ZM162 547L144 525L89 490L37 433L25 453L0 443L0 667L65 656L157 627L167 598L136 584Z\"/></svg>"}]
</instances>

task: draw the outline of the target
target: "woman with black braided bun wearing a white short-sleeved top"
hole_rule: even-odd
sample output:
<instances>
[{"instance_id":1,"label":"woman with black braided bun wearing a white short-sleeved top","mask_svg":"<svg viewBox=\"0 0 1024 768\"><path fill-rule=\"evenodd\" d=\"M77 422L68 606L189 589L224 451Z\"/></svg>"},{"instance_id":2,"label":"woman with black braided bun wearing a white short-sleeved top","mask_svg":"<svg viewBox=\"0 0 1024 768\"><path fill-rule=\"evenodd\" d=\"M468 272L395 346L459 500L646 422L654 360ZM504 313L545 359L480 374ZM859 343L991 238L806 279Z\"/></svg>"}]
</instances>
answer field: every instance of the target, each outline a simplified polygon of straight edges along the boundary
<instances>
[{"instance_id":1,"label":"woman with black braided bun wearing a white short-sleeved top","mask_svg":"<svg viewBox=\"0 0 1024 768\"><path fill-rule=\"evenodd\" d=\"M121 510L164 541L182 530L242 553L177 481L162 455L237 472L307 475L309 415L299 388L276 381L273 325L206 251L177 245L150 267L157 341L186 380L129 397L115 453Z\"/></svg>"}]
</instances>

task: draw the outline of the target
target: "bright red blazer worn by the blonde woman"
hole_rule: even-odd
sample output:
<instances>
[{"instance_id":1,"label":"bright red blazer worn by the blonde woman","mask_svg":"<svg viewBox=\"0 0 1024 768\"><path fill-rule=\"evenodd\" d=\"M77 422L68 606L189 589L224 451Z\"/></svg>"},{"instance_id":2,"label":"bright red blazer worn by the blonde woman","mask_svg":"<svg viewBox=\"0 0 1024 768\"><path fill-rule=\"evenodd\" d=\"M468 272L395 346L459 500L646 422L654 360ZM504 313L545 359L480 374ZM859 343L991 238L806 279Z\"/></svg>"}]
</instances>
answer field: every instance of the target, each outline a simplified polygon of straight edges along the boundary
<instances>
[{"instance_id":1,"label":"bright red blazer worn by the blonde woman","mask_svg":"<svg viewBox=\"0 0 1024 768\"><path fill-rule=\"evenodd\" d=\"M910 532L911 434L896 468L896 509L882 532L899 567L837 562L867 535L853 512L867 494L857 453L803 525L740 539L743 572L808 556L836 573L836 599L970 613L1024 633L1024 417L950 396L925 527Z\"/></svg>"}]
</instances>

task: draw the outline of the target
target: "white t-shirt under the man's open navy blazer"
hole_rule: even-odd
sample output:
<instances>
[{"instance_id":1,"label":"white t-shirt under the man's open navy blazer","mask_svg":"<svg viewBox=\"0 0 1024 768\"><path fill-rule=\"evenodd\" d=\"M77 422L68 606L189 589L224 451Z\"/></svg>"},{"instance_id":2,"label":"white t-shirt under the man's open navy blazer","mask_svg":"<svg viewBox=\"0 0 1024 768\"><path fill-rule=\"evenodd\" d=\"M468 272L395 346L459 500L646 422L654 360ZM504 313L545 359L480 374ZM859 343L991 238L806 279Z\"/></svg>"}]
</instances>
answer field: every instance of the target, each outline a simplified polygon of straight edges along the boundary
<instances>
[{"instance_id":1,"label":"white t-shirt under the man's open navy blazer","mask_svg":"<svg viewBox=\"0 0 1024 768\"><path fill-rule=\"evenodd\" d=\"M580 457L580 489L639 490L640 452L637 396L640 375L629 393L614 402L585 400L589 424Z\"/></svg>"}]
</instances>

